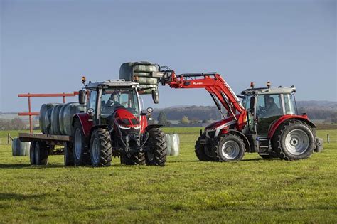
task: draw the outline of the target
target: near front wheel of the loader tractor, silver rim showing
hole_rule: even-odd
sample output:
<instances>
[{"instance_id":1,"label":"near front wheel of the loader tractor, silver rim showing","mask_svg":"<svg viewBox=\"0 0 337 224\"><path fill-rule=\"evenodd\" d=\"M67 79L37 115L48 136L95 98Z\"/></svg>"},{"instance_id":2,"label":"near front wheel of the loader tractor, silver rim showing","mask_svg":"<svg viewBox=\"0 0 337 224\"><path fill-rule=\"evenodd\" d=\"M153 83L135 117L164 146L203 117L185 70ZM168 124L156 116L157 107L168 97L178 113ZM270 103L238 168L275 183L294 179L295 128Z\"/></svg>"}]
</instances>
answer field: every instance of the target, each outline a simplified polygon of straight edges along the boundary
<instances>
[{"instance_id":1,"label":"near front wheel of the loader tractor, silver rim showing","mask_svg":"<svg viewBox=\"0 0 337 224\"><path fill-rule=\"evenodd\" d=\"M216 161L239 161L245 154L245 143L235 134L225 134L213 142Z\"/></svg>"}]
</instances>

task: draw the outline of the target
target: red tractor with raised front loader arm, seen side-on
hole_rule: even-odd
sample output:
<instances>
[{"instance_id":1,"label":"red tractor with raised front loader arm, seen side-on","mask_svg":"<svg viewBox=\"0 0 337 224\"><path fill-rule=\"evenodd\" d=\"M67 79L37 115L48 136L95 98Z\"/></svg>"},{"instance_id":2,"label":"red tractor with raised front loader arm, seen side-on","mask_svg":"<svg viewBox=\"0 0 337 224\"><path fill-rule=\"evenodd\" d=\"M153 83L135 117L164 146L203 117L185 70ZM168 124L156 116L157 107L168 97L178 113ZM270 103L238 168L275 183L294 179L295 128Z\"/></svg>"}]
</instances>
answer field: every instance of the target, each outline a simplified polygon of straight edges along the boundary
<instances>
[{"instance_id":1,"label":"red tractor with raised front loader arm, seen side-on","mask_svg":"<svg viewBox=\"0 0 337 224\"><path fill-rule=\"evenodd\" d=\"M221 112L218 122L200 130L196 156L200 161L237 161L245 152L257 152L264 159L306 159L323 148L316 138L315 125L306 114L298 114L292 87L251 88L237 96L218 73L176 75L162 71L160 82L171 88L204 88ZM239 98L242 98L240 102Z\"/></svg>"}]
</instances>

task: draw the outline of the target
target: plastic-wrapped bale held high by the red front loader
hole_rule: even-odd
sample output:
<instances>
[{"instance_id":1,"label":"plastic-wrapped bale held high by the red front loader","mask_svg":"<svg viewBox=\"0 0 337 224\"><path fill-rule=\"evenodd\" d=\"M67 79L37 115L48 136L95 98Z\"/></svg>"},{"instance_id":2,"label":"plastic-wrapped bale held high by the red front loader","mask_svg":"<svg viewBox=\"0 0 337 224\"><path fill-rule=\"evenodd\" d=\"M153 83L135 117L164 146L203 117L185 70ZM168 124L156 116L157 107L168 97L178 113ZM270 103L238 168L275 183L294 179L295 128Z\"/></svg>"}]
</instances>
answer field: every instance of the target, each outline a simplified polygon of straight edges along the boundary
<instances>
[{"instance_id":1,"label":"plastic-wrapped bale held high by the red front loader","mask_svg":"<svg viewBox=\"0 0 337 224\"><path fill-rule=\"evenodd\" d=\"M137 82L142 94L151 94L151 90L158 89L158 78L152 78L151 72L159 72L160 67L148 61L123 63L119 69L119 78Z\"/></svg>"}]
</instances>

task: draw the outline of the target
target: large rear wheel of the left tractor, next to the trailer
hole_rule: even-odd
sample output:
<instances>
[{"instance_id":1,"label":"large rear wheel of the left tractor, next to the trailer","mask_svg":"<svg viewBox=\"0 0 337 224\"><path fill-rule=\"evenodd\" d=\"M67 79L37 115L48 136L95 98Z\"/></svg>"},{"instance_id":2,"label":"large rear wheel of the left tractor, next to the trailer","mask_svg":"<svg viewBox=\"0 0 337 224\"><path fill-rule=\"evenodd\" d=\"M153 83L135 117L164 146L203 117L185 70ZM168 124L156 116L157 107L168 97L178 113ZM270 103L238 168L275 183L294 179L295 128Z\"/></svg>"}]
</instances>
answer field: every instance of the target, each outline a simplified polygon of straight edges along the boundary
<instances>
[{"instance_id":1,"label":"large rear wheel of the left tractor, next to the trailer","mask_svg":"<svg viewBox=\"0 0 337 224\"><path fill-rule=\"evenodd\" d=\"M75 120L72 137L73 137L73 156L75 165L81 166L88 164L90 161L90 157L87 153L85 153L85 146L87 145L87 141L85 139L82 124L79 119Z\"/></svg>"}]
</instances>

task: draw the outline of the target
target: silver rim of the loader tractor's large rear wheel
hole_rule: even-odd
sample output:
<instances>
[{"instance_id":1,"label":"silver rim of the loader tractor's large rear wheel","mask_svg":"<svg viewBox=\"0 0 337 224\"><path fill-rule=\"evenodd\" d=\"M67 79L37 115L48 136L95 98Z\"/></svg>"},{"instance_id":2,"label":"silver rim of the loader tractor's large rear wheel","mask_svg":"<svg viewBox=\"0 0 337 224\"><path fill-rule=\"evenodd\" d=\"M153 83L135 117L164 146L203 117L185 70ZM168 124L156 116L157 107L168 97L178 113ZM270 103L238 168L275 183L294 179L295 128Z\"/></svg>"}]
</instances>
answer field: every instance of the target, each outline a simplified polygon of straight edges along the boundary
<instances>
[{"instance_id":1,"label":"silver rim of the loader tractor's large rear wheel","mask_svg":"<svg viewBox=\"0 0 337 224\"><path fill-rule=\"evenodd\" d=\"M309 148L309 136L303 130L292 130L287 134L285 145L291 154L304 154Z\"/></svg>"}]
</instances>

